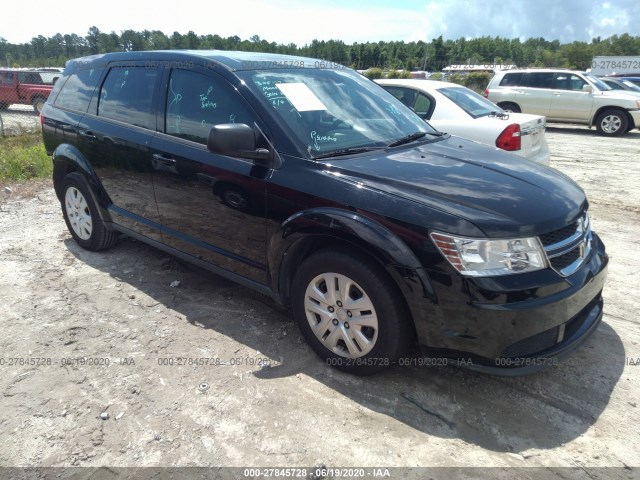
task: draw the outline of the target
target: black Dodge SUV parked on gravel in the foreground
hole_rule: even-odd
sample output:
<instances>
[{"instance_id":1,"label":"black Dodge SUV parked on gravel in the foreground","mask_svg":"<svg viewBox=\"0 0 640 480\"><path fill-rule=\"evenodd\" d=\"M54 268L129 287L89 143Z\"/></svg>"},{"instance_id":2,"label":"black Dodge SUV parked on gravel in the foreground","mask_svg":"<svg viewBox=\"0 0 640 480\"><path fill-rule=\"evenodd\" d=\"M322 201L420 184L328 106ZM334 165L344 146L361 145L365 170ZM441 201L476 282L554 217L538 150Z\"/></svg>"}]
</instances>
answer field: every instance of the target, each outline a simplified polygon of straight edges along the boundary
<instances>
[{"instance_id":1,"label":"black Dodge SUV parked on gravel in the foreground","mask_svg":"<svg viewBox=\"0 0 640 480\"><path fill-rule=\"evenodd\" d=\"M80 246L126 234L270 295L344 370L406 360L417 340L439 359L527 373L601 321L608 257L580 187L433 130L340 65L86 57L41 120Z\"/></svg>"}]
</instances>

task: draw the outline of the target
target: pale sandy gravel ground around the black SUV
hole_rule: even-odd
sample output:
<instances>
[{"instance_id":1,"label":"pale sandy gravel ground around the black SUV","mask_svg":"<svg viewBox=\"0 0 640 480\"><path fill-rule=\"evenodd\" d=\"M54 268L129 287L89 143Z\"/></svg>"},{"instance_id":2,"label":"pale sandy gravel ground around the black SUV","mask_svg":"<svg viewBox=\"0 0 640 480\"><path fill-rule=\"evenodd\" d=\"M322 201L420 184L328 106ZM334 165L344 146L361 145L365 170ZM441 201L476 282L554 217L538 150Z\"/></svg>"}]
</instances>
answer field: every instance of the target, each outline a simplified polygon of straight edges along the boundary
<instances>
[{"instance_id":1,"label":"pale sandy gravel ground around the black SUV","mask_svg":"<svg viewBox=\"0 0 640 480\"><path fill-rule=\"evenodd\" d=\"M338 372L267 298L133 240L84 251L49 181L2 185L0 466L536 467L519 475L638 478L640 131L608 139L552 126L547 138L551 166L586 190L611 264L596 334L523 378ZM491 475L500 472L511 475Z\"/></svg>"}]
</instances>

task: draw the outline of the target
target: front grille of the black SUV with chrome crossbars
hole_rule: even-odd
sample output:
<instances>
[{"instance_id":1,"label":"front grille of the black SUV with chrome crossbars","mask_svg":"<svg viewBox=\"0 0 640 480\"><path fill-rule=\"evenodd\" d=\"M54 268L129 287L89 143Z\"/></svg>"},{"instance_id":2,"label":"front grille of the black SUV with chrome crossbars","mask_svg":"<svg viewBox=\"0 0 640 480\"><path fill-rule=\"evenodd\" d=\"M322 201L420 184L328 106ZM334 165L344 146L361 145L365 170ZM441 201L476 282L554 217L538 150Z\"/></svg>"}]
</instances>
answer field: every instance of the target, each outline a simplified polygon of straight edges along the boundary
<instances>
[{"instance_id":1,"label":"front grille of the black SUV with chrome crossbars","mask_svg":"<svg viewBox=\"0 0 640 480\"><path fill-rule=\"evenodd\" d=\"M573 223L540 235L549 264L563 277L575 273L591 253L591 225L585 213Z\"/></svg>"}]
</instances>

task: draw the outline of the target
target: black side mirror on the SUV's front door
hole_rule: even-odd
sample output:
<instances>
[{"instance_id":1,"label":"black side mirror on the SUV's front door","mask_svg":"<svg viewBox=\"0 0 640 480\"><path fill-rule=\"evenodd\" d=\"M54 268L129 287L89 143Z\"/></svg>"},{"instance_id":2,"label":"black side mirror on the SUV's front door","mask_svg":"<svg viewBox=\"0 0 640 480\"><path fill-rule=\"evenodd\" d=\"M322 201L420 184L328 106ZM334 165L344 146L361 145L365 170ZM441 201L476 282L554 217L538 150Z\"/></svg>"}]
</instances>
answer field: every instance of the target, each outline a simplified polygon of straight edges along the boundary
<instances>
[{"instance_id":1,"label":"black side mirror on the SUV's front door","mask_svg":"<svg viewBox=\"0 0 640 480\"><path fill-rule=\"evenodd\" d=\"M269 150L256 148L255 132L244 123L222 123L211 127L207 148L211 152L229 157L261 161L271 159Z\"/></svg>"}]
</instances>

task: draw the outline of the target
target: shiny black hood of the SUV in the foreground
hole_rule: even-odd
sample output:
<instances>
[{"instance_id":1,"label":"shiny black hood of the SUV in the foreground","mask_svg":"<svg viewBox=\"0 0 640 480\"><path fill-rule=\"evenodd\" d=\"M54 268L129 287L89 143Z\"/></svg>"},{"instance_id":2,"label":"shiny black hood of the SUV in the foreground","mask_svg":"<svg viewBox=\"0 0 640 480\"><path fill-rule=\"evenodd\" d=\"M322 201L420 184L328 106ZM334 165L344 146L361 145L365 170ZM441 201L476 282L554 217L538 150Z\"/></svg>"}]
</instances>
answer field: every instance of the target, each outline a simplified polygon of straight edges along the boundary
<instances>
[{"instance_id":1,"label":"shiny black hood of the SUV in the foreground","mask_svg":"<svg viewBox=\"0 0 640 480\"><path fill-rule=\"evenodd\" d=\"M583 190L557 170L457 137L321 165L344 181L469 221L488 237L550 232L588 207Z\"/></svg>"}]
</instances>

